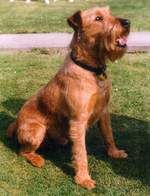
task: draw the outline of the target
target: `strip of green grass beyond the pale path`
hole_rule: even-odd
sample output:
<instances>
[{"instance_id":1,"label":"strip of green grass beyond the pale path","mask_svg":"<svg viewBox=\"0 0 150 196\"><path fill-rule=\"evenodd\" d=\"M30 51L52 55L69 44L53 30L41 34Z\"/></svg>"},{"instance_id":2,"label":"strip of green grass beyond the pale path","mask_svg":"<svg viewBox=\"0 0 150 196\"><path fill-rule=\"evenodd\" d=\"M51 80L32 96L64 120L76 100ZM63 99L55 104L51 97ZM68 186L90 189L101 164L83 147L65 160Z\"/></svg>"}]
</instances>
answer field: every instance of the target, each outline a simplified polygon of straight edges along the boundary
<instances>
[{"instance_id":1,"label":"strip of green grass beyond the pale path","mask_svg":"<svg viewBox=\"0 0 150 196\"><path fill-rule=\"evenodd\" d=\"M23 0L10 3L0 0L0 33L70 32L66 18L76 10L109 5L113 14L129 18L132 31L149 31L149 0L58 0L45 5L41 1L26 4Z\"/></svg>"}]
</instances>

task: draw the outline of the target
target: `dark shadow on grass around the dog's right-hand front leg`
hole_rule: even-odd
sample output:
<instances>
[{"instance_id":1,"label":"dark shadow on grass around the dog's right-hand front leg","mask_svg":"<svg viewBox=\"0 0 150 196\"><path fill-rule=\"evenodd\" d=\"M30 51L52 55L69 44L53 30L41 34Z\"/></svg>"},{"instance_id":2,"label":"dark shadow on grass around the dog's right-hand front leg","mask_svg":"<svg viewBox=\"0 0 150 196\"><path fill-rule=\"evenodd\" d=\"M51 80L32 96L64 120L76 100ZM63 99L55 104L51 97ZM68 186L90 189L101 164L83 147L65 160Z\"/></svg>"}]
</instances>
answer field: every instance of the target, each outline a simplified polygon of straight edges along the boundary
<instances>
[{"instance_id":1,"label":"dark shadow on grass around the dog's right-hand front leg","mask_svg":"<svg viewBox=\"0 0 150 196\"><path fill-rule=\"evenodd\" d=\"M115 114L111 117L116 144L128 153L128 158L124 160L109 158L102 142L99 144L96 128L93 132L92 130L89 132L88 153L97 160L107 162L117 175L150 185L150 123Z\"/></svg>"}]
</instances>

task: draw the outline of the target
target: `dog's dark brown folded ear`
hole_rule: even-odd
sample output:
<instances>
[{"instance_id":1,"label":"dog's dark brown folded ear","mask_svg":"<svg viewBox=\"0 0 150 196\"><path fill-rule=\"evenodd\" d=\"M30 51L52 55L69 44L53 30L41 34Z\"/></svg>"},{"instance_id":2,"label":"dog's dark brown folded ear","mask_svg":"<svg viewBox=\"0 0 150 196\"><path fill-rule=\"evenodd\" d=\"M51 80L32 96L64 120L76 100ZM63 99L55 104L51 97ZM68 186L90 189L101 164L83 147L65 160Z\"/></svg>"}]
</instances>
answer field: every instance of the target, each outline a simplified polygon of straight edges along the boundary
<instances>
[{"instance_id":1,"label":"dog's dark brown folded ear","mask_svg":"<svg viewBox=\"0 0 150 196\"><path fill-rule=\"evenodd\" d=\"M70 27L72 27L75 31L82 27L82 19L81 19L81 11L77 11L73 16L68 18L67 20Z\"/></svg>"}]
</instances>

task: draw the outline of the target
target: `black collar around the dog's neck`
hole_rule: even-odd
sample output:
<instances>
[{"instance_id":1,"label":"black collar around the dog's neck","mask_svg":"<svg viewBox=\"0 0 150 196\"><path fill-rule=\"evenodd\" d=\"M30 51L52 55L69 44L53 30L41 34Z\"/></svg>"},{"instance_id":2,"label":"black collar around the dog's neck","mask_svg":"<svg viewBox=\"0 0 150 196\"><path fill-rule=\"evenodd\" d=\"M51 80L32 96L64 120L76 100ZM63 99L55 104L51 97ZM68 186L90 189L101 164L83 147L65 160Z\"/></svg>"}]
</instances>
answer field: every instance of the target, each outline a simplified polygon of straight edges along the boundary
<instances>
[{"instance_id":1,"label":"black collar around the dog's neck","mask_svg":"<svg viewBox=\"0 0 150 196\"><path fill-rule=\"evenodd\" d=\"M106 71L106 68L107 66L106 65L103 65L102 67L92 67L90 65L87 65L87 64L84 64L80 61L78 61L74 55L73 52L70 53L70 57L71 59L73 60L73 62L77 65L79 65L80 67L82 67L83 69L86 69L88 71L91 71L93 73L95 73L96 75L101 75L101 74L104 74L105 71Z\"/></svg>"}]
</instances>

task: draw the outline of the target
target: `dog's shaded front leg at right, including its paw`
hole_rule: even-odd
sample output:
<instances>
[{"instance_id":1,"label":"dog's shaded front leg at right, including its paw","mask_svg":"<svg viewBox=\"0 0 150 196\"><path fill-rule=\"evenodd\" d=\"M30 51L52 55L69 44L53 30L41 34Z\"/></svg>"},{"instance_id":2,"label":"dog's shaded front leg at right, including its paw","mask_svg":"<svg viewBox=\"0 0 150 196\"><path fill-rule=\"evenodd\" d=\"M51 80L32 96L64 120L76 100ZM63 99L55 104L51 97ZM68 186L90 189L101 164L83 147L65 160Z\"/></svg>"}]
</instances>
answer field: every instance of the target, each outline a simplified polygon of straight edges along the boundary
<instances>
[{"instance_id":1,"label":"dog's shaded front leg at right, including its paw","mask_svg":"<svg viewBox=\"0 0 150 196\"><path fill-rule=\"evenodd\" d=\"M119 150L115 145L108 108L105 108L103 111L98 124L101 129L108 155L112 158L126 158L128 156L127 153L125 153L124 150Z\"/></svg>"}]
</instances>

